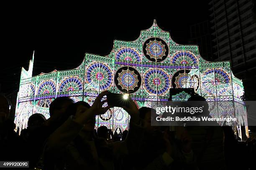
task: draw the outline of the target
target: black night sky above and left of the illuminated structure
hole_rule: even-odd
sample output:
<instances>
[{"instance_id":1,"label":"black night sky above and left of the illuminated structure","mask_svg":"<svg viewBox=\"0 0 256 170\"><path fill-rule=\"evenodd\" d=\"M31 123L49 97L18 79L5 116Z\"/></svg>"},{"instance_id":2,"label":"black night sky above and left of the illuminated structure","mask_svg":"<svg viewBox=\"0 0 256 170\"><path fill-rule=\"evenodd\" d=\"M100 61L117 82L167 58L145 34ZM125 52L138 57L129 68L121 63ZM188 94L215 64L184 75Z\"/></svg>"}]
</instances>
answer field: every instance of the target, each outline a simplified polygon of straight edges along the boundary
<instances>
[{"instance_id":1,"label":"black night sky above and left of the illuminated structure","mask_svg":"<svg viewBox=\"0 0 256 170\"><path fill-rule=\"evenodd\" d=\"M6 13L2 22L0 92L9 95L18 91L21 67L28 69L33 50L33 76L54 69L68 70L80 65L86 52L104 56L112 50L114 40L136 40L154 19L175 42L188 44L189 25L209 16L206 0L200 4L179 1L159 7L126 6L127 9L99 9L77 4L41 10L28 7Z\"/></svg>"}]
</instances>

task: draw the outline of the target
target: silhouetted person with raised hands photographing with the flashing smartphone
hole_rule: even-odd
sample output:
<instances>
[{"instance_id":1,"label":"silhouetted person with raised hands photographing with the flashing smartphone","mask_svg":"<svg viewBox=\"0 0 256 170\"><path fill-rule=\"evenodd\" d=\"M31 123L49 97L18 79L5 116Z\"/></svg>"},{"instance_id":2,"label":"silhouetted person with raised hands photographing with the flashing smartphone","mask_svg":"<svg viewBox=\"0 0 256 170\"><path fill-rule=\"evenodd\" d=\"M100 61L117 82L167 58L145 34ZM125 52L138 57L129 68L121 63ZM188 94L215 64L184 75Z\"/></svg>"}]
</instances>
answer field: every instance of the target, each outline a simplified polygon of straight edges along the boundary
<instances>
[{"instance_id":1,"label":"silhouetted person with raised hands photographing with the flashing smartphone","mask_svg":"<svg viewBox=\"0 0 256 170\"><path fill-rule=\"evenodd\" d=\"M121 155L127 153L125 142L108 144L105 140L93 137L95 116L104 114L110 108L102 107L104 102L101 102L101 99L106 94L107 91L101 92L91 107L82 103L74 104L75 109L71 116L47 140L46 169L51 169L52 165L49 164L52 163L55 167L67 170L114 169L114 160L119 160ZM133 104L135 105L134 102ZM132 122L138 120L133 109L125 109L131 115Z\"/></svg>"}]
</instances>

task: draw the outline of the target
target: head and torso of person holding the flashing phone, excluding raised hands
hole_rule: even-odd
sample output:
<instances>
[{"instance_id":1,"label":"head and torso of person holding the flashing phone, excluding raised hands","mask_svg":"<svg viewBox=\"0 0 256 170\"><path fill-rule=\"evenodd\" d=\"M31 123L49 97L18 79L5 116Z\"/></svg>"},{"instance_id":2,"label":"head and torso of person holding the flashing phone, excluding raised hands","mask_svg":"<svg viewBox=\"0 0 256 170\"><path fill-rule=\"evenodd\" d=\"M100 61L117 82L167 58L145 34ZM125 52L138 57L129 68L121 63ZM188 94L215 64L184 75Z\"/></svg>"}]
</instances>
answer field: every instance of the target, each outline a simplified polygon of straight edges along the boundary
<instances>
[{"instance_id":1,"label":"head and torso of person holding the flashing phone, excluding raised hands","mask_svg":"<svg viewBox=\"0 0 256 170\"><path fill-rule=\"evenodd\" d=\"M94 113L86 113L89 108L88 103L77 102L67 109L71 116L47 140L47 169L99 168L94 135L95 116Z\"/></svg>"}]
</instances>

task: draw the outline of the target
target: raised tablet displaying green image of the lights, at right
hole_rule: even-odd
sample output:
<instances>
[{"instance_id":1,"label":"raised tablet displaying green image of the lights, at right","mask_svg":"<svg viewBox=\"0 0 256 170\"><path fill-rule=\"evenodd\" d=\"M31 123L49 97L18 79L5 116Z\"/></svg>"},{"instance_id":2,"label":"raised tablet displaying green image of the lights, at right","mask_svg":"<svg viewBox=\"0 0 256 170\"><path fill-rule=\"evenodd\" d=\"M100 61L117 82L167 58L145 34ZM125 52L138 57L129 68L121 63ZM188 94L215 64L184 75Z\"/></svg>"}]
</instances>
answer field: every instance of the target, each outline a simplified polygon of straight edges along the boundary
<instances>
[{"instance_id":1,"label":"raised tablet displaying green image of the lights, at right","mask_svg":"<svg viewBox=\"0 0 256 170\"><path fill-rule=\"evenodd\" d=\"M187 101L189 97L195 95L194 88L171 88L170 99L172 101Z\"/></svg>"}]
</instances>

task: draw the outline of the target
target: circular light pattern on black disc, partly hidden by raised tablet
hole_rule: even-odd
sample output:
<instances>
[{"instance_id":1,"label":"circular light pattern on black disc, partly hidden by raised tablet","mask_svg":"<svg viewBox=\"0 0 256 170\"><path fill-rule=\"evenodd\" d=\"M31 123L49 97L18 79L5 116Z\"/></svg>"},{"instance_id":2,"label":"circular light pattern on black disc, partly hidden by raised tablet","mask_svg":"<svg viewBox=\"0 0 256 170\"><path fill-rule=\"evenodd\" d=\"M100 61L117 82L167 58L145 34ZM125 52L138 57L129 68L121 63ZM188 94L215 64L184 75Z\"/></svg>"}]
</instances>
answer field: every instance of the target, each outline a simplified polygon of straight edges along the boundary
<instances>
[{"instance_id":1,"label":"circular light pattern on black disc, partly hidden by raised tablet","mask_svg":"<svg viewBox=\"0 0 256 170\"><path fill-rule=\"evenodd\" d=\"M197 75L190 76L186 73L179 73L177 77L175 77L175 85L176 88L194 88L197 90L199 86L199 79Z\"/></svg>"}]
</instances>

